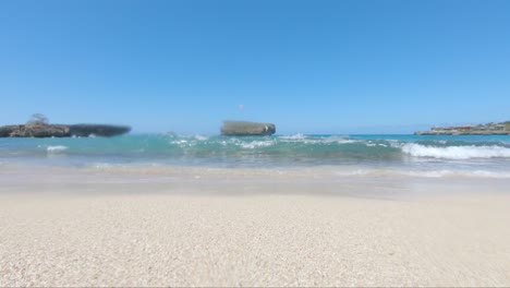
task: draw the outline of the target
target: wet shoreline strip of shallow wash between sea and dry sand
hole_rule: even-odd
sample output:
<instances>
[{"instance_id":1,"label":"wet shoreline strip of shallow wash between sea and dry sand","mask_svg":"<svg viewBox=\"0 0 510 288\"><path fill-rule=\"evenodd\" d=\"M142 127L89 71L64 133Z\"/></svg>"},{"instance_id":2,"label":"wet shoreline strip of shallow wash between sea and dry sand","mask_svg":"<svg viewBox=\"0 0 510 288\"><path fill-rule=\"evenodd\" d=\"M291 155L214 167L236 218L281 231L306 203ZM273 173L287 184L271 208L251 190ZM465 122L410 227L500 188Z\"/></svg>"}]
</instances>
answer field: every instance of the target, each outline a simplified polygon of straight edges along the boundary
<instances>
[{"instance_id":1,"label":"wet shoreline strip of shallow wash between sea and dry sand","mask_svg":"<svg viewBox=\"0 0 510 288\"><path fill-rule=\"evenodd\" d=\"M325 172L326 171L326 172ZM239 169L171 167L160 171L104 170L25 166L5 168L0 194L169 194L169 195L309 195L373 199L420 197L441 194L509 194L510 178L413 177L396 173L331 173L317 169Z\"/></svg>"}]
</instances>

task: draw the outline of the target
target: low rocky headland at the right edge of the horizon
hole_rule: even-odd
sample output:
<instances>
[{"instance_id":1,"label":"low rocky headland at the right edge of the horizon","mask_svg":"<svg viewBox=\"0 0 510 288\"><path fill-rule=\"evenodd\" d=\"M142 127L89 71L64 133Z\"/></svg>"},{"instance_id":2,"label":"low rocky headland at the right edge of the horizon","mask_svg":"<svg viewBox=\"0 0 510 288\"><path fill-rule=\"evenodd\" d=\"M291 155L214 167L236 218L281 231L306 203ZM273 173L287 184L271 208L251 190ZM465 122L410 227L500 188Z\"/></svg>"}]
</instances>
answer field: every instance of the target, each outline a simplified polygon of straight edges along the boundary
<instances>
[{"instance_id":1,"label":"low rocky headland at the right edge of the horizon","mask_svg":"<svg viewBox=\"0 0 510 288\"><path fill-rule=\"evenodd\" d=\"M510 121L460 127L435 127L428 131L416 131L415 135L510 135Z\"/></svg>"}]
</instances>

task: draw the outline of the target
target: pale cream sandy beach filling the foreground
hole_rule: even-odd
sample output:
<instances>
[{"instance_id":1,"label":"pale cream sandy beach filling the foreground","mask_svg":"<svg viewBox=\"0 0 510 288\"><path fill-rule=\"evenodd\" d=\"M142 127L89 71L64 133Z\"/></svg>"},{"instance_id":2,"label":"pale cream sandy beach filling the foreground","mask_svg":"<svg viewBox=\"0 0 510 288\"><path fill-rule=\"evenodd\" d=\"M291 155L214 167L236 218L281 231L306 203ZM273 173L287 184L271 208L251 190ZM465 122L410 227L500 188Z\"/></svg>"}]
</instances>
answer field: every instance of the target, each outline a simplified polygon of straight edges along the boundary
<instances>
[{"instance_id":1,"label":"pale cream sandy beach filling the foreground","mask_svg":"<svg viewBox=\"0 0 510 288\"><path fill-rule=\"evenodd\" d=\"M503 188L314 187L4 187L0 286L510 285Z\"/></svg>"}]
</instances>

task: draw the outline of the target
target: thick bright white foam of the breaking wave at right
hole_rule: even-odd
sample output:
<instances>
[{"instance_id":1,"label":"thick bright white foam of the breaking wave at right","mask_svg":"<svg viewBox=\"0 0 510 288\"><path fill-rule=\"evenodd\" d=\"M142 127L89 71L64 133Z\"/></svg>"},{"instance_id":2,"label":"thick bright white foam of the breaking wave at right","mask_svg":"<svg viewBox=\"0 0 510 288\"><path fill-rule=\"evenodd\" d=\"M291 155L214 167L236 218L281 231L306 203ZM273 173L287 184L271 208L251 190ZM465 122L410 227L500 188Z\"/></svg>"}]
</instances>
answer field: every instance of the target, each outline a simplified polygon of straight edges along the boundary
<instances>
[{"instance_id":1,"label":"thick bright white foam of the breaking wave at right","mask_svg":"<svg viewBox=\"0 0 510 288\"><path fill-rule=\"evenodd\" d=\"M510 158L510 148L501 146L451 146L434 147L415 143L402 146L402 152L415 157L430 157L437 159L473 159L473 158Z\"/></svg>"}]
</instances>

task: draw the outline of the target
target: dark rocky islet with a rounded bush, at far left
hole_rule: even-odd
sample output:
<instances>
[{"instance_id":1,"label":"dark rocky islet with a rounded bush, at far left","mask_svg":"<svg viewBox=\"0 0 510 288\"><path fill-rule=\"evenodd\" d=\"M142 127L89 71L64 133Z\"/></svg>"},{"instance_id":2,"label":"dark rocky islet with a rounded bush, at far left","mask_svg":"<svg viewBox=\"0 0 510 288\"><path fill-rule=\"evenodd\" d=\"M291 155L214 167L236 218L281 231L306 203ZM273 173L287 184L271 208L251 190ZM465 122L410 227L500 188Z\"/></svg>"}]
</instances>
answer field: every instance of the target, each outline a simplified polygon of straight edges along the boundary
<instances>
[{"instance_id":1,"label":"dark rocky islet with a rounded bush, at far left","mask_svg":"<svg viewBox=\"0 0 510 288\"><path fill-rule=\"evenodd\" d=\"M114 136L130 131L125 125L50 124L45 116L34 115L26 124L0 127L0 137Z\"/></svg>"}]
</instances>

